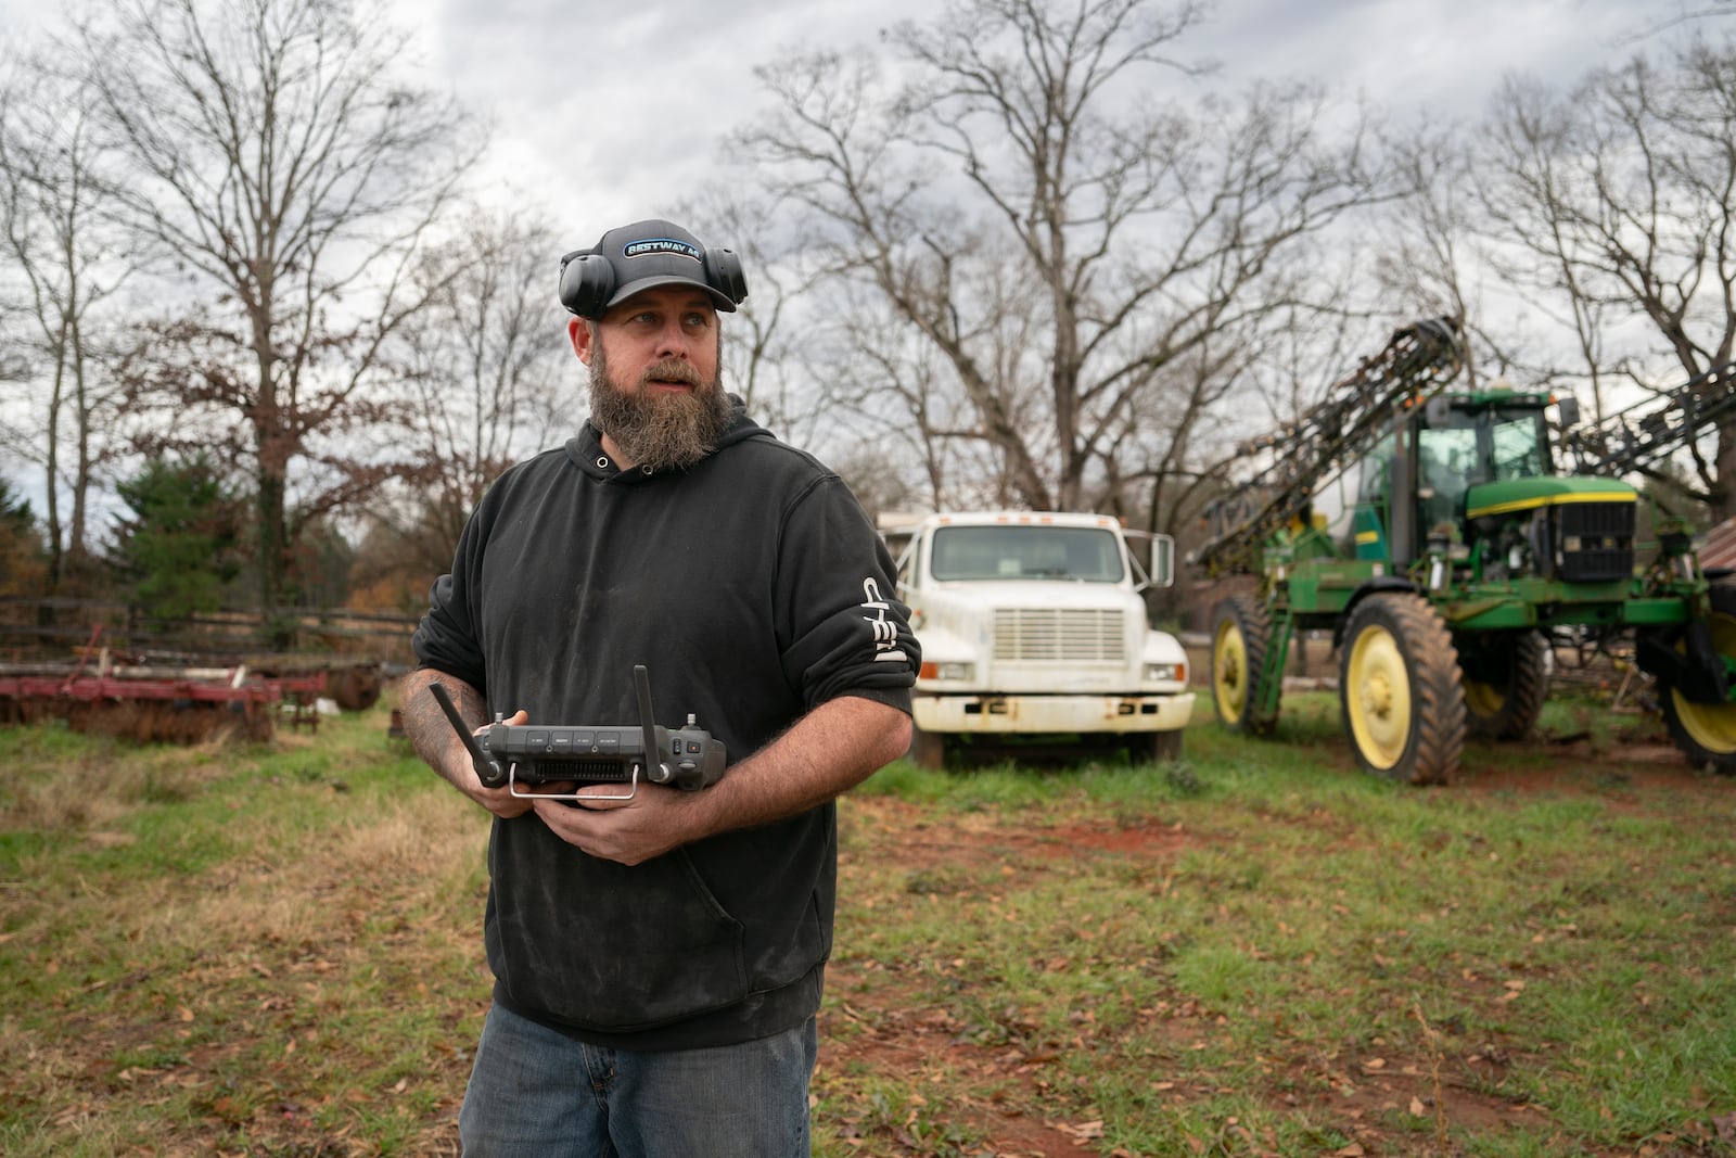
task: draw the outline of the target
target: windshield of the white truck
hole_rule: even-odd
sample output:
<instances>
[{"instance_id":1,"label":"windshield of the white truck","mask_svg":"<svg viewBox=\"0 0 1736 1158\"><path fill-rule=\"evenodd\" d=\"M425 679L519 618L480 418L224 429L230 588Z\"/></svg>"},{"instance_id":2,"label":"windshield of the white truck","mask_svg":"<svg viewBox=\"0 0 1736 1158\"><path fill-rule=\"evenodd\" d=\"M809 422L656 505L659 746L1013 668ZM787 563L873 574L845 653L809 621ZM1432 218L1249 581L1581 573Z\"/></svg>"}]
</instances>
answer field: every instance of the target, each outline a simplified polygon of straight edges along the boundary
<instances>
[{"instance_id":1,"label":"windshield of the white truck","mask_svg":"<svg viewBox=\"0 0 1736 1158\"><path fill-rule=\"evenodd\" d=\"M1115 531L1090 526L943 526L934 531L937 580L1069 580L1120 583Z\"/></svg>"}]
</instances>

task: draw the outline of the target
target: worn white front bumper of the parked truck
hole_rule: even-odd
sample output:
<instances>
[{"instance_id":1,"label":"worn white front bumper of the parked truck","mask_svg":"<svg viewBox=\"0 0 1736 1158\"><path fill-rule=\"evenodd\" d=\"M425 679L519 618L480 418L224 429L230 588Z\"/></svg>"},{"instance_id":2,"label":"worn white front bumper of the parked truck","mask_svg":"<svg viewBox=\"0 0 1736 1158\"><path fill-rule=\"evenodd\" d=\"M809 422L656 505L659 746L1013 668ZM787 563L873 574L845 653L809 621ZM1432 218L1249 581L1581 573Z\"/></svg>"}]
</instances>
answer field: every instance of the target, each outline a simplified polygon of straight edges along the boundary
<instances>
[{"instance_id":1,"label":"worn white front bumper of the parked truck","mask_svg":"<svg viewBox=\"0 0 1736 1158\"><path fill-rule=\"evenodd\" d=\"M1186 727L1194 693L1174 696L996 696L917 691L911 715L927 733L1153 733Z\"/></svg>"}]
</instances>

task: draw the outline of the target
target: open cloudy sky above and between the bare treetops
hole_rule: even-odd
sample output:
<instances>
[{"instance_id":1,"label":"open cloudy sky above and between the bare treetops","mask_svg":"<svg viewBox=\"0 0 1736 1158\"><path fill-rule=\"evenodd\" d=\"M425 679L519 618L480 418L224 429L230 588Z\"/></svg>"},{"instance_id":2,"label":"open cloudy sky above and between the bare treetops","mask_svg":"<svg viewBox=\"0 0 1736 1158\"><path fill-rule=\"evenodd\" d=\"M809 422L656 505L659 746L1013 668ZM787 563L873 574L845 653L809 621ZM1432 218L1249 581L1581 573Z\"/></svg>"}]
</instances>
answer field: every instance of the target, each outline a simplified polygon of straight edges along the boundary
<instances>
[{"instance_id":1,"label":"open cloudy sky above and between the bare treetops","mask_svg":"<svg viewBox=\"0 0 1736 1158\"><path fill-rule=\"evenodd\" d=\"M78 2L78 0L75 0ZM92 0L101 3L101 0ZM580 243L717 177L719 142L762 102L753 68L797 43L878 52L939 0L385 0L420 71L495 120L502 200L542 201ZM1710 0L1703 0L1710 2ZM1701 0L1217 0L1177 56L1194 82L1318 78L1397 118L1477 116L1500 78L1571 83ZM59 5L0 0L0 42Z\"/></svg>"}]
</instances>

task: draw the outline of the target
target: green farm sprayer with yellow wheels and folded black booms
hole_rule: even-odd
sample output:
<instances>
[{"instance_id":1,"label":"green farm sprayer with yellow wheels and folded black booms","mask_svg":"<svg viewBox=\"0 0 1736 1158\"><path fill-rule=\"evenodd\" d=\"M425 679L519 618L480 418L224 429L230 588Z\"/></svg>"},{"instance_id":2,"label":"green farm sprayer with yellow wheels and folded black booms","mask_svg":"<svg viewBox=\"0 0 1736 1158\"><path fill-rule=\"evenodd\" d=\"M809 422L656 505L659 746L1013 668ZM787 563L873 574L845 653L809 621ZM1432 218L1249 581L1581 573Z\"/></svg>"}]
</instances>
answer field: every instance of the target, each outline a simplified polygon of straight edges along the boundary
<instances>
[{"instance_id":1,"label":"green farm sprayer with yellow wheels and folded black booms","mask_svg":"<svg viewBox=\"0 0 1736 1158\"><path fill-rule=\"evenodd\" d=\"M1641 542L1623 481L1736 413L1736 363L1581 427L1571 398L1450 392L1462 359L1451 319L1403 328L1240 450L1278 453L1208 510L1193 556L1213 578L1259 576L1212 611L1220 719L1271 733L1292 639L1330 630L1358 762L1446 783L1467 734L1529 734L1557 642L1632 646L1677 748L1736 773L1736 578L1705 575L1667 512L1647 512L1656 542Z\"/></svg>"}]
</instances>

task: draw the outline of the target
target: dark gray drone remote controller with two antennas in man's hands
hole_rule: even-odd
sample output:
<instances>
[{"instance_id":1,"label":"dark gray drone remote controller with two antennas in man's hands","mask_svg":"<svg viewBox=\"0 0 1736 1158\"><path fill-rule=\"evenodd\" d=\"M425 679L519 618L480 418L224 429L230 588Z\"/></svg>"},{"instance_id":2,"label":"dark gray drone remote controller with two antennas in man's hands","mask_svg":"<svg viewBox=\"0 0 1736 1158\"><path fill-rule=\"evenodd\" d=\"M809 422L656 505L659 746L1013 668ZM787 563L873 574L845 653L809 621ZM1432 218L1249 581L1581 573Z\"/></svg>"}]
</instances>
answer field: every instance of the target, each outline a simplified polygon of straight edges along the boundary
<instances>
[{"instance_id":1,"label":"dark gray drone remote controller with two antennas in man's hands","mask_svg":"<svg viewBox=\"0 0 1736 1158\"><path fill-rule=\"evenodd\" d=\"M484 788L512 790L516 797L554 800L632 800L639 780L687 792L710 788L724 774L724 743L694 724L670 731L651 722L651 677L634 665L639 724L502 724L472 734L439 682L429 684L453 731L470 752L470 766ZM649 753L649 759L648 759ZM623 795L519 792L519 785L627 785Z\"/></svg>"}]
</instances>

